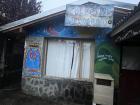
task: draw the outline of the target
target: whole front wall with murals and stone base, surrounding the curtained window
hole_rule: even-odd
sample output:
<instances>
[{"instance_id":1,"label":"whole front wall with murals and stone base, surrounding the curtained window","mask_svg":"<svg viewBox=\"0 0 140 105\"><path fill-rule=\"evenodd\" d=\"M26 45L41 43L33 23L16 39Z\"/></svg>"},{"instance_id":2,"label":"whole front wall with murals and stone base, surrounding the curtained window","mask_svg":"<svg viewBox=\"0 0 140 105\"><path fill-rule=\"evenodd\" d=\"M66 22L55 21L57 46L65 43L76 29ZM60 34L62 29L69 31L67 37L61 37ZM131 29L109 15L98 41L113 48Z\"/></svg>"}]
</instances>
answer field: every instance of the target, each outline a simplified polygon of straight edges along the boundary
<instances>
[{"instance_id":1,"label":"whole front wall with murals and stone base, surrounding the curtained window","mask_svg":"<svg viewBox=\"0 0 140 105\"><path fill-rule=\"evenodd\" d=\"M66 27L64 16L53 18L27 29L25 42L22 90L30 95L48 97L50 100L69 100L92 103L93 83L72 79L55 79L43 75L43 42L45 37L67 39L93 39L96 42L95 72L110 74L119 80L119 50L112 44L108 33L111 29ZM94 64L93 64L94 65ZM80 91L79 91L80 90Z\"/></svg>"}]
</instances>

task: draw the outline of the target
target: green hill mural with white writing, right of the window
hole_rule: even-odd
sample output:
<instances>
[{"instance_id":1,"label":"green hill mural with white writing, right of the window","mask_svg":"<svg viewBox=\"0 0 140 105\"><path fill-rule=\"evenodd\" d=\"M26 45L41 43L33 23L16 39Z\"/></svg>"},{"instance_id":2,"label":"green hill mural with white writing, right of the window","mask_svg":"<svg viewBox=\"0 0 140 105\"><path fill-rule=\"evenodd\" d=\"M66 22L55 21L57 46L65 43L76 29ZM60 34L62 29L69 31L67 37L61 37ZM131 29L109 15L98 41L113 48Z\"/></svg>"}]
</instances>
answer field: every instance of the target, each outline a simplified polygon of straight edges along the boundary
<instances>
[{"instance_id":1,"label":"green hill mural with white writing, right of the window","mask_svg":"<svg viewBox=\"0 0 140 105\"><path fill-rule=\"evenodd\" d=\"M120 49L107 35L110 31L111 29L102 29L96 36L95 73L110 74L118 88Z\"/></svg>"}]
</instances>

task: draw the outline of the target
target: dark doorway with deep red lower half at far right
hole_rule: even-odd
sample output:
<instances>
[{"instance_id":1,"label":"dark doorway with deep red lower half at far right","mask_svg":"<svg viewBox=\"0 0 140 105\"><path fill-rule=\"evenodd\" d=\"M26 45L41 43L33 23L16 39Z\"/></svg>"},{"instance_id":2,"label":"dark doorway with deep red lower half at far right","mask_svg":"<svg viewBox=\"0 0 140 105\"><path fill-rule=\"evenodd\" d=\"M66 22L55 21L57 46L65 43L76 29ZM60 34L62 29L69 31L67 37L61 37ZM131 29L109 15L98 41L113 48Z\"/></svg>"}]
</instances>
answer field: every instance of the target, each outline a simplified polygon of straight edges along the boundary
<instances>
[{"instance_id":1,"label":"dark doorway with deep red lower half at far right","mask_svg":"<svg viewBox=\"0 0 140 105\"><path fill-rule=\"evenodd\" d=\"M140 105L140 46L123 46L121 105Z\"/></svg>"}]
</instances>

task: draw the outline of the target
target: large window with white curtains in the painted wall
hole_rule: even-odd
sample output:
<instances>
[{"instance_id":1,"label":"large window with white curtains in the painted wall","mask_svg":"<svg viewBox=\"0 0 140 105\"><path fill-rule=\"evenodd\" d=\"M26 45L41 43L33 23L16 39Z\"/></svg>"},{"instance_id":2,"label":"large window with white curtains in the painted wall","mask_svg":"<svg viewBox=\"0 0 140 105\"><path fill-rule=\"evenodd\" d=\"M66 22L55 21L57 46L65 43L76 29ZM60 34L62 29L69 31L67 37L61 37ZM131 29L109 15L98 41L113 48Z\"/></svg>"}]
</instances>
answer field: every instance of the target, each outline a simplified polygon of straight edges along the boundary
<instances>
[{"instance_id":1,"label":"large window with white curtains in the painted wall","mask_svg":"<svg viewBox=\"0 0 140 105\"><path fill-rule=\"evenodd\" d=\"M89 79L93 72L93 43L75 40L48 40L46 75Z\"/></svg>"}]
</instances>

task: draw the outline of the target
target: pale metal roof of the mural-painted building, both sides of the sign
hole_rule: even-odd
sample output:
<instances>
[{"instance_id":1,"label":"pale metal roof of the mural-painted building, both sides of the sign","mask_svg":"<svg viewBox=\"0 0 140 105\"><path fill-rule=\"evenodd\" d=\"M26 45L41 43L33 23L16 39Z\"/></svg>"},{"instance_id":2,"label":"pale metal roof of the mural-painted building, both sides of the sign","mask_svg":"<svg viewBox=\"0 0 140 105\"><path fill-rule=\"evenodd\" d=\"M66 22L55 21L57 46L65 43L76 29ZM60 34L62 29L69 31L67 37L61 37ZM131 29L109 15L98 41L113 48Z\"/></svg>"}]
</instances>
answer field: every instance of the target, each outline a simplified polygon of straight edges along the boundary
<instances>
[{"instance_id":1,"label":"pale metal roof of the mural-painted building, both sides of the sign","mask_svg":"<svg viewBox=\"0 0 140 105\"><path fill-rule=\"evenodd\" d=\"M127 8L127 9L133 9L133 7L135 6L134 4L122 3L122 2L112 1L112 0L78 0L78 1L73 2L71 4L82 5L82 4L85 4L88 2L98 3L98 4L102 4L102 5L111 4L113 6ZM30 25L30 24L33 24L33 23L36 23L39 21L43 21L43 20L51 18L53 16L57 16L57 15L60 15L62 13L65 13L65 10L66 10L66 5L61 6L59 8L55 8L53 10L48 10L46 12L30 16L27 18L23 18L23 19L15 21L15 22L11 22L11 23L8 23L8 24L1 26L0 31L14 30L14 29L18 29L20 26L25 27L27 25Z\"/></svg>"}]
</instances>

